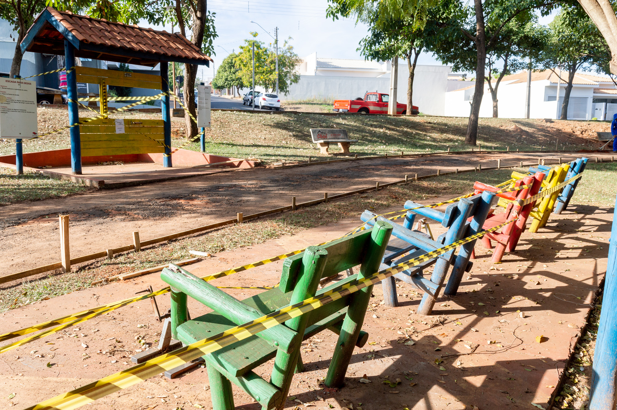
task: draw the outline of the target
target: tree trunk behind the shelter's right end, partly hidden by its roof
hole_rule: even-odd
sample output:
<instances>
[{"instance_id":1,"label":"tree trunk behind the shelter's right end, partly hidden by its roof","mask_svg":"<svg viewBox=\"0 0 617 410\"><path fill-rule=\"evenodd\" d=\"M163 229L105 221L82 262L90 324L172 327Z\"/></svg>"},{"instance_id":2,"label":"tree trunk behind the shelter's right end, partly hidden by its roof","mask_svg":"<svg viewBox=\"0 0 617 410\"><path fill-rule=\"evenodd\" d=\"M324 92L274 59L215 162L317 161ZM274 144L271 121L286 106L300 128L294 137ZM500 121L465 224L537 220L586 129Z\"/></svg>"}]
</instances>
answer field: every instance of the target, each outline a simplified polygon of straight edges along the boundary
<instances>
[{"instance_id":1,"label":"tree trunk behind the shelter's right end, partly hidden by its roof","mask_svg":"<svg viewBox=\"0 0 617 410\"><path fill-rule=\"evenodd\" d=\"M191 27L191 32L193 36L191 38L191 43L195 44L199 49L204 42L204 30L205 30L205 18L207 12L207 1L206 0L197 0L195 2L195 9L191 10L191 14L193 14L193 27ZM191 119L189 113L193 115L193 117L197 118L197 110L195 107L195 78L197 77L197 68L196 64L184 64L184 107L186 110L184 112L184 121L186 123L186 136L193 137L197 135L197 123Z\"/></svg>"}]
</instances>

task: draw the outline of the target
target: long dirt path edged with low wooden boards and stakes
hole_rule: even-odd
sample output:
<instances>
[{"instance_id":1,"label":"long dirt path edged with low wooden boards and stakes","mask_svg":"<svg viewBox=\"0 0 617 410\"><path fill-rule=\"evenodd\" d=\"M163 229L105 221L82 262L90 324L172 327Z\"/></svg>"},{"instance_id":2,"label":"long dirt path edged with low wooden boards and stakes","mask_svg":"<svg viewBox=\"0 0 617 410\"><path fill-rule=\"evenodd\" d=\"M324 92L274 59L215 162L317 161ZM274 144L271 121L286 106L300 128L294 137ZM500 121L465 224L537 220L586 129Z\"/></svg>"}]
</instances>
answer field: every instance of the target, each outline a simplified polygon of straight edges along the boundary
<instances>
[{"instance_id":1,"label":"long dirt path edged with low wooden boards and stakes","mask_svg":"<svg viewBox=\"0 0 617 410\"><path fill-rule=\"evenodd\" d=\"M514 154L514 153L513 153ZM409 174L434 174L477 166L502 166L557 158L553 154L476 154L387 158L305 166L284 170L258 168L177 181L89 191L62 199L22 202L2 207L0 276L60 260L59 214L70 215L72 258L141 240L289 205L396 181ZM559 154L563 158L603 154ZM606 155L605 155L606 157ZM564 159L566 160L566 159ZM610 157L609 157L610 160ZM478 178L481 178L478 176Z\"/></svg>"}]
</instances>

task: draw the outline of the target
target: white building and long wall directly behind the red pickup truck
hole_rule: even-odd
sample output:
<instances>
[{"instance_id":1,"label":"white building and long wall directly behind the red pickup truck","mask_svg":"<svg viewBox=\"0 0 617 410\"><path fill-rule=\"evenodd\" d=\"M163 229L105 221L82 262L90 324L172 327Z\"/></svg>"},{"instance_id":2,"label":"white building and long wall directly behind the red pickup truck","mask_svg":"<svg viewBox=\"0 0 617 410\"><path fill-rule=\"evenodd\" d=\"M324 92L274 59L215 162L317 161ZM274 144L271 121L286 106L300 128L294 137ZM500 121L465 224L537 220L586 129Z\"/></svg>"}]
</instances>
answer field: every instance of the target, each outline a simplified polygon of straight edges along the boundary
<instances>
[{"instance_id":1,"label":"white building and long wall directly behind the red pickup truck","mask_svg":"<svg viewBox=\"0 0 617 410\"><path fill-rule=\"evenodd\" d=\"M389 92L389 61L332 59L307 55L297 66L300 81L289 86L288 100L332 100L363 97L366 91ZM416 65L413 83L413 105L429 115L444 115L448 65ZM397 101L407 103L409 70L399 60Z\"/></svg>"}]
</instances>

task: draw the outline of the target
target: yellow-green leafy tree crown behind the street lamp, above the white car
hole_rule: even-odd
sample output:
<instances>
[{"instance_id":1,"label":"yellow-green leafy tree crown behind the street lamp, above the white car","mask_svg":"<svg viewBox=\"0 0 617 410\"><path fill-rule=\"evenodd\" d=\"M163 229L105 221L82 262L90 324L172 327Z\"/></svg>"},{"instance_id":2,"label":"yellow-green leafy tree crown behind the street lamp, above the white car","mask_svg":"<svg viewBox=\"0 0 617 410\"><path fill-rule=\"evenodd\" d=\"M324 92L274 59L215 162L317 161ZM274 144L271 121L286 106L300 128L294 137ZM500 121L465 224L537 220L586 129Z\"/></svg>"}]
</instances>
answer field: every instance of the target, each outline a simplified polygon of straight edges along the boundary
<instances>
[{"instance_id":1,"label":"yellow-green leafy tree crown behind the street lamp, above the white car","mask_svg":"<svg viewBox=\"0 0 617 410\"><path fill-rule=\"evenodd\" d=\"M257 33L251 33L256 35ZM291 38L289 38L291 39ZM255 45L255 86L262 86L268 92L276 88L276 54L273 44L266 47L262 41L244 40L244 46L240 46L240 52L234 58L234 65L238 68L238 75L245 87L252 87L252 45ZM294 47L284 41L278 49L278 81L279 91L286 94L291 84L300 81L300 75L296 73L296 65L300 62Z\"/></svg>"}]
</instances>

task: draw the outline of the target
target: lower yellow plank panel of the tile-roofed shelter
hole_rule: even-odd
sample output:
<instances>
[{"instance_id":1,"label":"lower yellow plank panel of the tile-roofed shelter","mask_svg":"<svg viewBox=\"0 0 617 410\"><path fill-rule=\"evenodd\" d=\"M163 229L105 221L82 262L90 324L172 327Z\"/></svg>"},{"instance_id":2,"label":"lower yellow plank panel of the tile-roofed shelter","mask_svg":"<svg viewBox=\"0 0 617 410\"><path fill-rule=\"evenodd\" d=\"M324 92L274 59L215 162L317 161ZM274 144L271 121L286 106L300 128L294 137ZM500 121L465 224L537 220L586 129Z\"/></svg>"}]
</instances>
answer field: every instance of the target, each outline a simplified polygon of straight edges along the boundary
<instances>
[{"instance_id":1,"label":"lower yellow plank panel of the tile-roofed shelter","mask_svg":"<svg viewBox=\"0 0 617 410\"><path fill-rule=\"evenodd\" d=\"M123 123L125 133L116 133L114 118L99 118L80 125L81 156L165 152L163 120L125 118Z\"/></svg>"}]
</instances>

